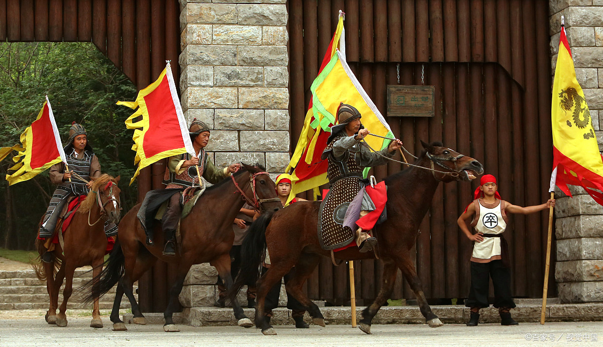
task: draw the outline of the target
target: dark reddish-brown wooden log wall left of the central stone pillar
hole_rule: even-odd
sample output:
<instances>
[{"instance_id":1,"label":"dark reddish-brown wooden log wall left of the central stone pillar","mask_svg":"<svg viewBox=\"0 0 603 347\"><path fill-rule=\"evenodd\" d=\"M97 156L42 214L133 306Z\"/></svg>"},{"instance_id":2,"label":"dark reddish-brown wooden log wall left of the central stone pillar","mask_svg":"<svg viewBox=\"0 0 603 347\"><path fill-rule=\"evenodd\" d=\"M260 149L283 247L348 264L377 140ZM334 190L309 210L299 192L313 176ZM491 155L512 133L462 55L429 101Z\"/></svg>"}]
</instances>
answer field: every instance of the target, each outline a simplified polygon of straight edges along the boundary
<instances>
[{"instance_id":1,"label":"dark reddish-brown wooden log wall left of the central stone pillar","mask_svg":"<svg viewBox=\"0 0 603 347\"><path fill-rule=\"evenodd\" d=\"M8 42L92 42L140 90L154 81L171 59L178 86L180 68L178 0L0 0L0 40ZM138 200L163 188L165 162L140 170ZM163 311L168 281L175 271L158 261L140 278L139 304Z\"/></svg>"}]
</instances>

